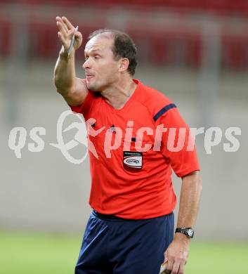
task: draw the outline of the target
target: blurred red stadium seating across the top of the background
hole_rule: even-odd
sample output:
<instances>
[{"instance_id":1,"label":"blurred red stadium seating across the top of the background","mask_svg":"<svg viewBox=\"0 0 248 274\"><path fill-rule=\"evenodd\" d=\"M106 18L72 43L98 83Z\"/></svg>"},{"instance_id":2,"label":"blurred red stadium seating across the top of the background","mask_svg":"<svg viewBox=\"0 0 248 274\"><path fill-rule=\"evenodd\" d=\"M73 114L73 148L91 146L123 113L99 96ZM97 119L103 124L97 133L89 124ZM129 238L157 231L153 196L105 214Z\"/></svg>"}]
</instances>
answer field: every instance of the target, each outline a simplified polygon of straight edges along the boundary
<instances>
[{"instance_id":1,"label":"blurred red stadium seating across the top of the background","mask_svg":"<svg viewBox=\"0 0 248 274\"><path fill-rule=\"evenodd\" d=\"M6 1L0 0L0 4L6 4ZM94 6L103 8L103 16L98 20L85 22L84 37L90 32L106 25L107 17L104 15L107 7L115 5L125 5L131 8L137 8L139 11L152 9L158 6L173 9L179 14L204 12L216 13L218 15L239 15L241 18L248 18L248 1L244 0L9 0L10 3L30 4L30 5L65 5L74 7ZM44 22L34 16L27 19L27 30L30 34L30 56L40 58L56 58L60 44L58 43L57 29L54 22ZM145 20L144 20L145 22ZM78 22L80 24L80 22ZM8 56L11 52L11 23L6 16L0 13L0 55ZM225 26L224 26L225 27ZM174 25L170 28L151 27L148 24L139 22L138 19L129 19L125 25L125 31L128 32L138 48L139 58L150 63L158 65L188 65L198 67L202 60L202 33L199 30L192 30L192 27L186 25ZM245 29L239 34L230 32L228 28L223 28L222 37L222 65L223 67L243 69L248 68L248 32ZM86 39L84 39L84 42ZM81 47L79 54L84 55L84 47Z\"/></svg>"}]
</instances>

